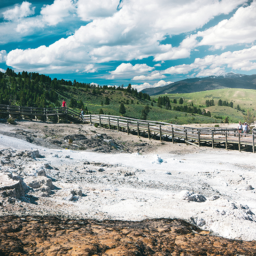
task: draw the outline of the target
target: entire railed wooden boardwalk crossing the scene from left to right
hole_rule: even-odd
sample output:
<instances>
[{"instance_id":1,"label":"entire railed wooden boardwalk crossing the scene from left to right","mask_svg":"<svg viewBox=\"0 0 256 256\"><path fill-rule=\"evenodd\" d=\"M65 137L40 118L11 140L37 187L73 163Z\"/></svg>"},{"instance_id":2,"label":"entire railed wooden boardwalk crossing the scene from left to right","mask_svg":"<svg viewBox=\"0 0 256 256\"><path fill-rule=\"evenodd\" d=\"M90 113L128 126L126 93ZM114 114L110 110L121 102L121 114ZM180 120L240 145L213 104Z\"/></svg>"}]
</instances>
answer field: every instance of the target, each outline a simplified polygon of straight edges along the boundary
<instances>
[{"instance_id":1,"label":"entire railed wooden boardwalk crossing the scene from left to right","mask_svg":"<svg viewBox=\"0 0 256 256\"><path fill-rule=\"evenodd\" d=\"M143 136L149 140L183 142L197 147L224 147L233 150L255 152L255 135L241 134L236 129L225 128L192 128L182 125L139 120L122 116L84 115L69 108L34 108L11 105L0 105L0 115L5 118L14 117L44 122L71 122L97 124L100 127L116 129L127 134Z\"/></svg>"}]
</instances>

